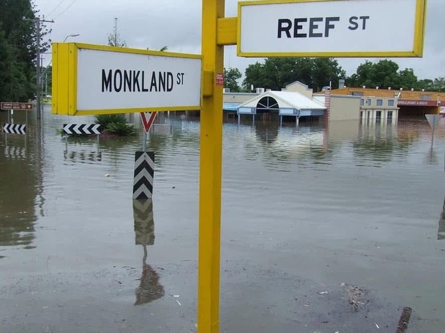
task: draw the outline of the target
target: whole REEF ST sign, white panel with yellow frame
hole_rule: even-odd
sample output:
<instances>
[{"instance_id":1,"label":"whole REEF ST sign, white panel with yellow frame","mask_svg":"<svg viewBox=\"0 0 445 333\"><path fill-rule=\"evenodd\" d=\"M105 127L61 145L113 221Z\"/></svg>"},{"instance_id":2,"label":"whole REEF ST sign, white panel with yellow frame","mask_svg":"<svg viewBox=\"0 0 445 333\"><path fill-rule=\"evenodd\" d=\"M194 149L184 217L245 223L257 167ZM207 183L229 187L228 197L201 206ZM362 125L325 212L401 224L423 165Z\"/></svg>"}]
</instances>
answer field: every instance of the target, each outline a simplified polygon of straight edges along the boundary
<instances>
[{"instance_id":1,"label":"whole REEF ST sign, white panel with yellow frame","mask_svg":"<svg viewBox=\"0 0 445 333\"><path fill-rule=\"evenodd\" d=\"M426 0L239 2L238 56L422 57L425 12Z\"/></svg>"}]
</instances>

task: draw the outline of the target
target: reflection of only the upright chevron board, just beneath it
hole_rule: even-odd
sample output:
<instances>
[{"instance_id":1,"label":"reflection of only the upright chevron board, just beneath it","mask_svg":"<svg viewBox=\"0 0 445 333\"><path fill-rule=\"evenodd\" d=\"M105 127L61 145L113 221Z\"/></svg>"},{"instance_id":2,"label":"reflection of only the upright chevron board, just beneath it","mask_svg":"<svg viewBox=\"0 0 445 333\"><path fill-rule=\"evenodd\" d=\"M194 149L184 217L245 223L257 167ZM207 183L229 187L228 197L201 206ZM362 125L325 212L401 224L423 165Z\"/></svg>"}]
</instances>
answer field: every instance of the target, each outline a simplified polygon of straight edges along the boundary
<instances>
[{"instance_id":1,"label":"reflection of only the upright chevron board, just beneath it","mask_svg":"<svg viewBox=\"0 0 445 333\"><path fill-rule=\"evenodd\" d=\"M153 245L155 243L153 200L133 200L133 217L136 245Z\"/></svg>"}]
</instances>

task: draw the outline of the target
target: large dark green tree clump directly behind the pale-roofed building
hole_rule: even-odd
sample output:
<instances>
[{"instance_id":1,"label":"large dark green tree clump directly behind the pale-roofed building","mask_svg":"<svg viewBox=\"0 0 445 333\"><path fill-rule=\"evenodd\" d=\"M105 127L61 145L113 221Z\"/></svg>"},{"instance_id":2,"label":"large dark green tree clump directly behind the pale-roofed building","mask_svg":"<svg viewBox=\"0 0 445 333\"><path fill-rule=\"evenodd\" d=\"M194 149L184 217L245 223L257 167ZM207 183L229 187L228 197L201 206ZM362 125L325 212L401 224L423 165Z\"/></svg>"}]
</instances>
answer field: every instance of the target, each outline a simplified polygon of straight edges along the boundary
<instances>
[{"instance_id":1,"label":"large dark green tree clump directly behind the pale-roofed building","mask_svg":"<svg viewBox=\"0 0 445 333\"><path fill-rule=\"evenodd\" d=\"M325 85L346 77L346 72L332 58L309 57L274 57L267 58L264 64L259 62L246 68L243 86L250 90L255 88L269 88L281 90L286 85L301 81L314 90L321 90Z\"/></svg>"}]
</instances>

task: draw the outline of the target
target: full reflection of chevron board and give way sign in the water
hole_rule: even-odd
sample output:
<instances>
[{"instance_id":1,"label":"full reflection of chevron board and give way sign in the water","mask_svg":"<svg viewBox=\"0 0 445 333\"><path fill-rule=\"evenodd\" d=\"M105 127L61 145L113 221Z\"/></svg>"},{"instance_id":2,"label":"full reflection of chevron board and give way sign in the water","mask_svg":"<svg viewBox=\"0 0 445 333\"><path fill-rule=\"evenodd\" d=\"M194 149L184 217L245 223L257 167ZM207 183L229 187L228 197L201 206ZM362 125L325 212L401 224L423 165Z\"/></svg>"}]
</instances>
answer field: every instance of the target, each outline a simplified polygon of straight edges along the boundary
<instances>
[{"instance_id":1,"label":"full reflection of chevron board and give way sign in the water","mask_svg":"<svg viewBox=\"0 0 445 333\"><path fill-rule=\"evenodd\" d=\"M146 304L164 296L164 287L159 282L159 275L147 264L147 245L155 243L155 222L153 220L153 201L133 200L134 232L136 244L144 248L142 258L142 276L136 288L134 305Z\"/></svg>"}]
</instances>

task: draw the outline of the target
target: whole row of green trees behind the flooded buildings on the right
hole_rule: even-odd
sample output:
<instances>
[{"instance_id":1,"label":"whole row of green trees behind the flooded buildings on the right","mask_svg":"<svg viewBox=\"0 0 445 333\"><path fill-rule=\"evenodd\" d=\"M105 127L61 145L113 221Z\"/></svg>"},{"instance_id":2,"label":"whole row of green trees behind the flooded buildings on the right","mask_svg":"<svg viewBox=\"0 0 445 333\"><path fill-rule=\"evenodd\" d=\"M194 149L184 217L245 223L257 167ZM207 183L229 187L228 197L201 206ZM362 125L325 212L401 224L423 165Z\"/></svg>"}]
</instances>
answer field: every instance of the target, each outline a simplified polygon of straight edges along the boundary
<instances>
[{"instance_id":1,"label":"whole row of green trees behind the flooded buildings on the right","mask_svg":"<svg viewBox=\"0 0 445 333\"><path fill-rule=\"evenodd\" d=\"M396 62L387 59L376 63L366 61L348 77L333 58L271 57L247 66L240 85L241 77L238 68L224 68L225 88L231 92L251 92L252 87L281 90L294 81L300 81L318 92L328 85L338 88L339 80L344 79L349 87L445 92L445 77L419 80L412 68L399 70Z\"/></svg>"}]
</instances>

